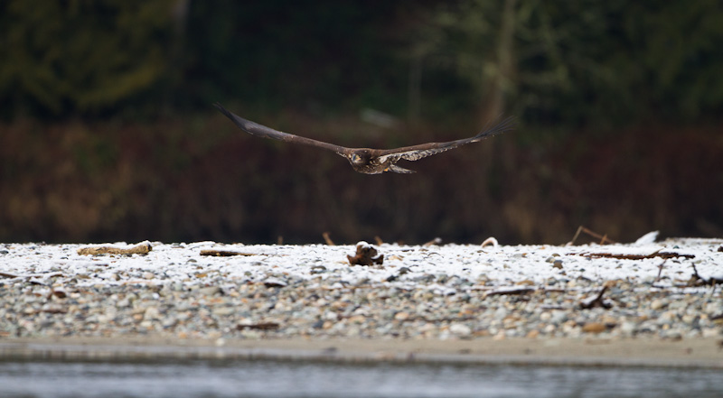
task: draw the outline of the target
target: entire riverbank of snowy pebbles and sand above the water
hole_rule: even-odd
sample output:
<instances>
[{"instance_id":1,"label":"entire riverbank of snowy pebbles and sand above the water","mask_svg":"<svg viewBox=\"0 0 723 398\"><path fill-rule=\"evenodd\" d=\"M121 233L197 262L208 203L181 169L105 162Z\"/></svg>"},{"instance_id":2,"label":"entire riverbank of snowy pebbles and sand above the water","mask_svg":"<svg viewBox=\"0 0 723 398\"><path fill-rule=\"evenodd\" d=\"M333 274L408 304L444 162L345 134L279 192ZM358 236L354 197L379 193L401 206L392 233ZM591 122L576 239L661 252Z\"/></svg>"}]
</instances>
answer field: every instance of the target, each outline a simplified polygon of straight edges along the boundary
<instances>
[{"instance_id":1,"label":"entire riverbank of snowy pebbles and sand above the water","mask_svg":"<svg viewBox=\"0 0 723 398\"><path fill-rule=\"evenodd\" d=\"M723 368L721 239L88 248L3 244L2 359Z\"/></svg>"}]
</instances>

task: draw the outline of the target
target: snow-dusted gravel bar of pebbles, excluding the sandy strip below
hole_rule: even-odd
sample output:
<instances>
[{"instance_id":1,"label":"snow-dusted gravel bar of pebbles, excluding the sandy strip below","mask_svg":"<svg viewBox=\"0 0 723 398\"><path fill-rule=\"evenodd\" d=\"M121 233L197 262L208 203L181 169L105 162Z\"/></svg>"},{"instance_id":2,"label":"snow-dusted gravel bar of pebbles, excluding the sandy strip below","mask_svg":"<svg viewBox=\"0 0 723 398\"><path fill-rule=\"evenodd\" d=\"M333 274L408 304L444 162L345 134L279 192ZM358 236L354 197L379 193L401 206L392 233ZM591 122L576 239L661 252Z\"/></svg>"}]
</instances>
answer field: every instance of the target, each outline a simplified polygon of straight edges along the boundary
<instances>
[{"instance_id":1,"label":"snow-dusted gravel bar of pebbles, excluding the sandy strip below","mask_svg":"<svg viewBox=\"0 0 723 398\"><path fill-rule=\"evenodd\" d=\"M723 334L721 239L383 244L370 245L383 255L372 265L350 264L356 245L142 245L0 244L0 340Z\"/></svg>"}]
</instances>

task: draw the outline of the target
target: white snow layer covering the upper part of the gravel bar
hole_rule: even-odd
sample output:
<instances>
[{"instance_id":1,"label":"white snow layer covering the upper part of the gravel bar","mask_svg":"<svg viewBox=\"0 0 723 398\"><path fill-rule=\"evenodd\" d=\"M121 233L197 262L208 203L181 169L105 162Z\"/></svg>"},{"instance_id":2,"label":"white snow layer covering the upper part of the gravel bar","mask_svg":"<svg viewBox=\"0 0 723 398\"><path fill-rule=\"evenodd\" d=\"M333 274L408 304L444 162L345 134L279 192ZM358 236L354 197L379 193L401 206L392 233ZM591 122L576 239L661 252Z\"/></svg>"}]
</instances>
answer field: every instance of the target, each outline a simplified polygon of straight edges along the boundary
<instances>
[{"instance_id":1,"label":"white snow layer covering the upper part of the gravel bar","mask_svg":"<svg viewBox=\"0 0 723 398\"><path fill-rule=\"evenodd\" d=\"M360 244L366 244L360 242ZM355 245L224 245L214 242L192 244L153 243L147 255L78 255L82 245L0 244L0 273L27 277L33 275L54 282L78 278L82 285L116 285L127 283L181 283L184 286L223 285L229 282L264 282L280 278L292 285L293 280L319 280L329 284L384 284L416 288L438 282L438 294L452 294L465 286L497 286L529 280L536 284L587 278L594 281L630 279L654 281L662 265L661 277L669 282L687 281L692 262L701 276L719 275L723 252L721 239L679 239L645 245L499 245L489 253L480 245L409 246L380 245L379 254L388 263L351 266L346 255L356 252ZM369 244L367 244L369 245ZM246 254L230 257L200 255L202 248ZM6 253L4 253L6 252ZM664 261L651 256L624 259L619 255L653 255L656 253L692 255ZM618 255L600 257L599 254ZM554 267L559 260L561 268ZM559 262L558 262L559 264ZM399 273L401 268L407 268ZM392 282L387 282L390 275ZM456 278L453 278L456 277ZM0 284L14 283L17 278L0 276ZM455 284L459 281L465 283ZM431 282L431 283L430 283Z\"/></svg>"}]
</instances>

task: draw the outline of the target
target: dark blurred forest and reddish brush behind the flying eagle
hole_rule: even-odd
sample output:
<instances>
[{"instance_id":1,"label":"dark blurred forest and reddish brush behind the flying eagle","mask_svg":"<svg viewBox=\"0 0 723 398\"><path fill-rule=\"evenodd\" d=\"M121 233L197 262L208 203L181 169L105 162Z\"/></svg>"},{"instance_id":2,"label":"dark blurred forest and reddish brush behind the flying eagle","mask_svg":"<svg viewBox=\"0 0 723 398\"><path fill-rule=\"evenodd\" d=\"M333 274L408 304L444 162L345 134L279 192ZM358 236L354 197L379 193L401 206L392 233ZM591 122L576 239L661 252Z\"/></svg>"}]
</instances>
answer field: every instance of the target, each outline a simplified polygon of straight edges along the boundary
<instances>
[{"instance_id":1,"label":"dark blurred forest and reddish brush behind the flying eagle","mask_svg":"<svg viewBox=\"0 0 723 398\"><path fill-rule=\"evenodd\" d=\"M723 236L715 0L0 3L0 241ZM514 131L362 175L346 146Z\"/></svg>"}]
</instances>

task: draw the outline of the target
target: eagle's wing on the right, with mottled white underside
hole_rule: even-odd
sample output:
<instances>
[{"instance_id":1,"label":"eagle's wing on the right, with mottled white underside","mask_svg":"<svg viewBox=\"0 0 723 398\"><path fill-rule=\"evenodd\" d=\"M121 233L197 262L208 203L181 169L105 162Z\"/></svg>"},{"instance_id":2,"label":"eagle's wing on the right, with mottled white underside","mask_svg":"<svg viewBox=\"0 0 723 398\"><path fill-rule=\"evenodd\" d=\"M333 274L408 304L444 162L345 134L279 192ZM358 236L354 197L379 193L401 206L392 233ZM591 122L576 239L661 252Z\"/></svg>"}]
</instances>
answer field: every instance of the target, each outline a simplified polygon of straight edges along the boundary
<instances>
[{"instance_id":1,"label":"eagle's wing on the right, with mottled white underside","mask_svg":"<svg viewBox=\"0 0 723 398\"><path fill-rule=\"evenodd\" d=\"M479 134L474 137L463 138L461 140L449 141L446 143L421 143L419 145L404 146L401 148L387 149L379 151L380 162L391 162L399 161L404 159L405 161L418 161L419 159L431 156L437 153L443 153L450 149L455 149L467 143L476 143L482 141L484 138L492 136L494 134L504 133L512 129L514 117L510 116L502 120L502 122L493 125L490 128L485 128Z\"/></svg>"}]
</instances>

